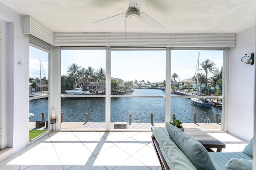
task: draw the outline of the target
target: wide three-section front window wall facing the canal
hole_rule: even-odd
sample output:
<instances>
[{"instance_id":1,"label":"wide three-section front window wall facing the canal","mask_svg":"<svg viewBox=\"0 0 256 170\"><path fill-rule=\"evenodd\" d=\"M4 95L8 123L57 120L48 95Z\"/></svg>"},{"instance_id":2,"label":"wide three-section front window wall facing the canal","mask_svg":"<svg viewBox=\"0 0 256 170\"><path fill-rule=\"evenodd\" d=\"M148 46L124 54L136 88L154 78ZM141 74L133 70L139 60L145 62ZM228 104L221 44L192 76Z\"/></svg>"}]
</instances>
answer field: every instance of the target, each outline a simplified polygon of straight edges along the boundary
<instances>
[{"instance_id":1,"label":"wide three-section front window wall facing the canal","mask_svg":"<svg viewBox=\"0 0 256 170\"><path fill-rule=\"evenodd\" d=\"M184 123L221 123L224 50L172 50L166 64L165 48L110 50L106 76L106 49L61 50L62 128L148 129L164 126L173 113ZM166 106L166 69L170 105ZM106 79L110 95L106 94ZM201 95L199 97L198 95ZM202 97L203 96L203 97ZM106 110L110 98L110 112ZM210 107L202 107L202 103ZM170 113L166 113L170 108ZM110 115L109 121L106 117ZM169 120L167 120L168 122ZM115 124L116 127L115 127Z\"/></svg>"}]
</instances>

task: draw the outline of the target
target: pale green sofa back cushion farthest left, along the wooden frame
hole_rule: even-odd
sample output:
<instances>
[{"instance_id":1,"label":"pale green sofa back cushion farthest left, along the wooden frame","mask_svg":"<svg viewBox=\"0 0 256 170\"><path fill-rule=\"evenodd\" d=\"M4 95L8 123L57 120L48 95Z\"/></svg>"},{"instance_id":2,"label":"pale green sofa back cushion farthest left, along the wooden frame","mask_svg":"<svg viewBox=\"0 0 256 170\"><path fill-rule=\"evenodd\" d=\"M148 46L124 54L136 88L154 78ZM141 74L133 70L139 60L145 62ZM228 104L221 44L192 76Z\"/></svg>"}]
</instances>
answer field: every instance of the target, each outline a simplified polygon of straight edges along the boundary
<instances>
[{"instance_id":1,"label":"pale green sofa back cushion farthest left, along the wooden frame","mask_svg":"<svg viewBox=\"0 0 256 170\"><path fill-rule=\"evenodd\" d=\"M156 128L152 133L155 136L164 159L170 169L196 170L196 167L162 128Z\"/></svg>"}]
</instances>

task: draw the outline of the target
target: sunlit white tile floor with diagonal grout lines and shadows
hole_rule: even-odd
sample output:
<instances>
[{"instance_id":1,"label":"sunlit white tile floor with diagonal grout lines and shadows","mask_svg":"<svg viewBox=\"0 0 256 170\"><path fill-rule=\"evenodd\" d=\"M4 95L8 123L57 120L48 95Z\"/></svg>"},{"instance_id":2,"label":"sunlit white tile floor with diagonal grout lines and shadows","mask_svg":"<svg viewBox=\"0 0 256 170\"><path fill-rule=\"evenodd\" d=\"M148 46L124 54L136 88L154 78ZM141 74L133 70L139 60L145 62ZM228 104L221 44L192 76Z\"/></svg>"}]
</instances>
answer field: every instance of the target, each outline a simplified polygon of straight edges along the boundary
<instances>
[{"instance_id":1,"label":"sunlit white tile floor with diagonal grout lines and shadows","mask_svg":"<svg viewBox=\"0 0 256 170\"><path fill-rule=\"evenodd\" d=\"M248 143L225 132L209 132L226 144L222 152ZM0 162L1 170L160 170L152 132L53 132Z\"/></svg>"}]
</instances>

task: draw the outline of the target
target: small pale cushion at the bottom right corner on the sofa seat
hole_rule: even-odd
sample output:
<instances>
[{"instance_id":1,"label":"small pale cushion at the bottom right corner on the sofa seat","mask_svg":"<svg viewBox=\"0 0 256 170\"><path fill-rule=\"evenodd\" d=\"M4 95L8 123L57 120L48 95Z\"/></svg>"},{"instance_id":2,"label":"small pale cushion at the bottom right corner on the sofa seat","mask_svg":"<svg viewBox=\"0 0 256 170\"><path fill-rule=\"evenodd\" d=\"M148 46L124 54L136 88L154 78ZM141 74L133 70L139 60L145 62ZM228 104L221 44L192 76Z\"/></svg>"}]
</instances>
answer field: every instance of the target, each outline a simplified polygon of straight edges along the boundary
<instances>
[{"instance_id":1,"label":"small pale cushion at the bottom right corner on the sofa seat","mask_svg":"<svg viewBox=\"0 0 256 170\"><path fill-rule=\"evenodd\" d=\"M227 170L252 170L252 160L231 158L226 164Z\"/></svg>"}]
</instances>

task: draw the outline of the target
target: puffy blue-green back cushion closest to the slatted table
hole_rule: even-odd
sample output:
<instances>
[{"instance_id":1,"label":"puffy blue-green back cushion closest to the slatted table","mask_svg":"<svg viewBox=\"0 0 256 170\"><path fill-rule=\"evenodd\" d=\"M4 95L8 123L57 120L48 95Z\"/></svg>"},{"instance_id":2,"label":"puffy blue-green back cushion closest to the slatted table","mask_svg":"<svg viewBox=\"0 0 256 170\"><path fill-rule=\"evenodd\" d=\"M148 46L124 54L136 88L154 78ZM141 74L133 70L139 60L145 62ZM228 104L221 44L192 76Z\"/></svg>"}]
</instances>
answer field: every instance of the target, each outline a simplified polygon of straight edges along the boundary
<instances>
[{"instance_id":1,"label":"puffy blue-green back cushion closest to the slatted table","mask_svg":"<svg viewBox=\"0 0 256 170\"><path fill-rule=\"evenodd\" d=\"M200 142L170 123L166 123L166 128L170 138L198 170L216 170L207 150Z\"/></svg>"}]
</instances>

